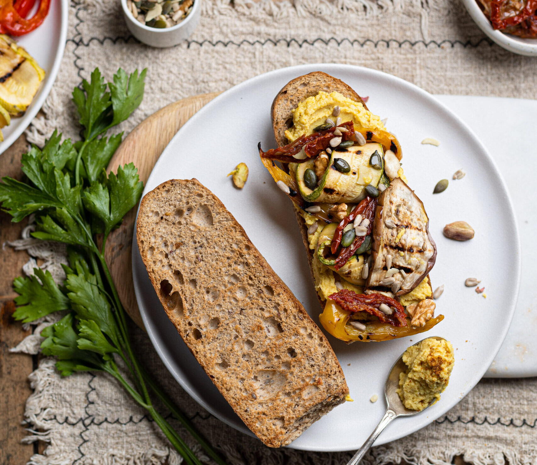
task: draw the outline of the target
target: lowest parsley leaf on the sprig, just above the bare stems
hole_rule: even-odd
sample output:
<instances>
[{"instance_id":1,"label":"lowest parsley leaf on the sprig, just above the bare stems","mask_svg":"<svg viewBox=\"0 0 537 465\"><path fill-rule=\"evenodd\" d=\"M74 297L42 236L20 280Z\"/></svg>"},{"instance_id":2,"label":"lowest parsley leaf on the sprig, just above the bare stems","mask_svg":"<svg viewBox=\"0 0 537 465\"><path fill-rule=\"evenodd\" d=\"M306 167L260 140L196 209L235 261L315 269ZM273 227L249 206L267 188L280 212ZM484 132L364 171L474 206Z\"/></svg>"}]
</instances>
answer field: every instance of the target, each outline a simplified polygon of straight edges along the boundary
<instances>
[{"instance_id":1,"label":"lowest parsley leaf on the sprig, just above the bare stems","mask_svg":"<svg viewBox=\"0 0 537 465\"><path fill-rule=\"evenodd\" d=\"M103 359L99 355L78 348L79 337L73 328L72 313L47 326L41 331L41 336L45 337L41 343L42 353L60 359L56 367L62 376L68 376L75 371L103 369Z\"/></svg>"}]
</instances>

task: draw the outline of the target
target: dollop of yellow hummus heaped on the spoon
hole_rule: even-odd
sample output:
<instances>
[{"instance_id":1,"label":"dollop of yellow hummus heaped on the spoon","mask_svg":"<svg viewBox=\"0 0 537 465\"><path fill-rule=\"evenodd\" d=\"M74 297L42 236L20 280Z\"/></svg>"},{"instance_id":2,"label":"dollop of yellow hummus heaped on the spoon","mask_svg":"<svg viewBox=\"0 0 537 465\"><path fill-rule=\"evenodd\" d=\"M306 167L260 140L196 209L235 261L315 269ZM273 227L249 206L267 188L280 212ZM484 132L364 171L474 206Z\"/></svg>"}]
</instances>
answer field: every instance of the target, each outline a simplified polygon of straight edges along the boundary
<instances>
[{"instance_id":1,"label":"dollop of yellow hummus heaped on the spoon","mask_svg":"<svg viewBox=\"0 0 537 465\"><path fill-rule=\"evenodd\" d=\"M410 346L403 361L408 369L399 375L397 394L407 409L422 411L440 399L449 383L455 363L453 347L447 340L427 338Z\"/></svg>"}]
</instances>

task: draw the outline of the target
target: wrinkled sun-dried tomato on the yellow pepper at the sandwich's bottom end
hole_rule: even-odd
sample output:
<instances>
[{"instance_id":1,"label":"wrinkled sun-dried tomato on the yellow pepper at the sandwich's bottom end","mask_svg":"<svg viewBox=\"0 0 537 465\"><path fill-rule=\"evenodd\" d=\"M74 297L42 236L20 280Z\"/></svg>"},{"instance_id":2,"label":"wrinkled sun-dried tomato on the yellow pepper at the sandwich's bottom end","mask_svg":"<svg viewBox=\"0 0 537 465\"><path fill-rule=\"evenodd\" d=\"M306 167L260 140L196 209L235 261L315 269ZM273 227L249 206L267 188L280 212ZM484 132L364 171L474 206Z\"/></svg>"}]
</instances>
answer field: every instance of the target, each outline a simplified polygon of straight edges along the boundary
<instances>
[{"instance_id":1,"label":"wrinkled sun-dried tomato on the yellow pepper at the sandwich's bottom end","mask_svg":"<svg viewBox=\"0 0 537 465\"><path fill-rule=\"evenodd\" d=\"M343 310L366 311L371 315L379 317L383 323L389 323L393 326L407 326L407 316L404 314L403 306L391 297L383 294L357 294L353 290L342 289L329 296L329 299L335 301ZM391 308L393 313L386 315L379 310L380 304L384 303Z\"/></svg>"}]
</instances>

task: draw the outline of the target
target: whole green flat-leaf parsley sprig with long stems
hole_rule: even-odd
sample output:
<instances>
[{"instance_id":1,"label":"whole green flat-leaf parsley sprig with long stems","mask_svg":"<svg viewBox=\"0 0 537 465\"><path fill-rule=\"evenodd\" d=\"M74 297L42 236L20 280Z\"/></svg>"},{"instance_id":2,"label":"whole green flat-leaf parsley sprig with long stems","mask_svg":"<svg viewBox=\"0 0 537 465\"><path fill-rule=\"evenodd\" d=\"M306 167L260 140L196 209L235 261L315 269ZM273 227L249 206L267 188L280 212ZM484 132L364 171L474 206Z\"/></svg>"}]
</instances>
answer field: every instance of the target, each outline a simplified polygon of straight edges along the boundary
<instances>
[{"instance_id":1,"label":"whole green flat-leaf parsley sprig with long stems","mask_svg":"<svg viewBox=\"0 0 537 465\"><path fill-rule=\"evenodd\" d=\"M90 82L72 93L81 141L62 142L54 132L42 149L32 146L22 156L26 182L4 177L0 204L18 222L35 214L32 235L46 241L68 244L66 279L58 286L48 271L34 269L28 278L16 278L19 294L14 317L32 322L56 311L67 311L60 321L41 331L45 355L56 357L63 376L81 371L111 374L133 399L146 409L187 465L201 465L186 442L159 413L152 391L216 463L225 462L194 429L191 422L144 371L130 343L126 313L119 300L104 258L106 239L119 227L126 213L137 205L143 184L133 163L119 166L107 175L106 166L119 147L123 133L106 136L109 129L125 121L140 105L146 70L127 76L119 69L113 82L105 83L96 68ZM97 235L101 235L100 248ZM134 382L118 369L115 357L125 363Z\"/></svg>"}]
</instances>

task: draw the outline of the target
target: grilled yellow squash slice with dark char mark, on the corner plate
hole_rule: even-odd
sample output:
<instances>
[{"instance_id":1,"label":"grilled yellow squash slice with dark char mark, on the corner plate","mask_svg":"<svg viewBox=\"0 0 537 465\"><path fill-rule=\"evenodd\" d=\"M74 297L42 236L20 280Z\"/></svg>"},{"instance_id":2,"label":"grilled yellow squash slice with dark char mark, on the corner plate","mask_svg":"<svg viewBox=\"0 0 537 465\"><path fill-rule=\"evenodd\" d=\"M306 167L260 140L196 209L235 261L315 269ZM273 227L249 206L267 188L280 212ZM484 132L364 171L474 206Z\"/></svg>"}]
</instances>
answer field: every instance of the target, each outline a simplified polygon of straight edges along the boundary
<instances>
[{"instance_id":1,"label":"grilled yellow squash slice with dark char mark, on the corner plate","mask_svg":"<svg viewBox=\"0 0 537 465\"><path fill-rule=\"evenodd\" d=\"M21 116L32 103L45 71L26 50L7 35L0 35L0 105Z\"/></svg>"}]
</instances>

